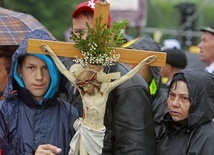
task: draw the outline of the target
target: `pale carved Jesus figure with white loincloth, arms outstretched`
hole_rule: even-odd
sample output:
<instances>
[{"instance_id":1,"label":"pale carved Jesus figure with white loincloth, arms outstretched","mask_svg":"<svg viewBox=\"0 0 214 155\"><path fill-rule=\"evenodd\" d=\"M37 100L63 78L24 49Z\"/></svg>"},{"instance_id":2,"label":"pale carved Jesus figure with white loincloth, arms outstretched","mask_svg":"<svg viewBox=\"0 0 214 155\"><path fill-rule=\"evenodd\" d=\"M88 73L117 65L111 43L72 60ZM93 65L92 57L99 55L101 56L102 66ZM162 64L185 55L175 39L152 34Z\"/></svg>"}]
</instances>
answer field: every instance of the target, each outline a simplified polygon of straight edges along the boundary
<instances>
[{"instance_id":1,"label":"pale carved Jesus figure with white loincloth, arms outstretched","mask_svg":"<svg viewBox=\"0 0 214 155\"><path fill-rule=\"evenodd\" d=\"M96 70L88 66L83 67L80 64L75 64L71 66L70 70L67 70L48 45L43 44L41 48L48 52L59 71L79 90L82 97L84 114L83 118L80 118L74 124L76 134L71 141L69 154L78 154L76 148L79 147L81 155L87 153L101 154L105 133L104 113L110 91L131 79L142 66L154 62L156 56L146 57L127 74L120 76L119 72L106 74L102 69ZM84 136L87 135L86 133L90 136ZM92 138L90 139L90 137ZM93 143L93 146L89 146L90 143Z\"/></svg>"}]
</instances>

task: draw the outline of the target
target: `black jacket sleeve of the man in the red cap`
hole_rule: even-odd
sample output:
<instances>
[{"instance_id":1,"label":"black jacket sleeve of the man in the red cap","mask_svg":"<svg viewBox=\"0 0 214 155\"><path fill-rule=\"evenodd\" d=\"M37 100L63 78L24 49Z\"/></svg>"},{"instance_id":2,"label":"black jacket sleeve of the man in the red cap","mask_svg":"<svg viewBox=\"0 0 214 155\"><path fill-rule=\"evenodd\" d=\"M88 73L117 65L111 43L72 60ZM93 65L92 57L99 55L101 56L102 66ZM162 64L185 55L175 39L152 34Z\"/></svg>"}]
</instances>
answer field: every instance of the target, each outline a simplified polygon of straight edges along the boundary
<instances>
[{"instance_id":1,"label":"black jacket sleeve of the man in the red cap","mask_svg":"<svg viewBox=\"0 0 214 155\"><path fill-rule=\"evenodd\" d=\"M105 116L103 154L153 155L156 151L153 113L146 88L112 91Z\"/></svg>"}]
</instances>

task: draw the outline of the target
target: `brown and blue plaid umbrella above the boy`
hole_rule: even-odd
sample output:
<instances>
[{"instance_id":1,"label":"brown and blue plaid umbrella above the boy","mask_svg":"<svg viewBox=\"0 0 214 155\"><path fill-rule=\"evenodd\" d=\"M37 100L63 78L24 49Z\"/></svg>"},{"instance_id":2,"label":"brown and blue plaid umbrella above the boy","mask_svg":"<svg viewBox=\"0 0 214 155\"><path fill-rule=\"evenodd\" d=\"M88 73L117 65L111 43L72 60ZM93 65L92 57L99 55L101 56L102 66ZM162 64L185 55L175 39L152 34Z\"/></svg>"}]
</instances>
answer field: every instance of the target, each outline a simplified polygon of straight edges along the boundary
<instances>
[{"instance_id":1,"label":"brown and blue plaid umbrella above the boy","mask_svg":"<svg viewBox=\"0 0 214 155\"><path fill-rule=\"evenodd\" d=\"M19 45L28 33L36 29L45 30L55 40L33 16L0 7L0 46Z\"/></svg>"}]
</instances>

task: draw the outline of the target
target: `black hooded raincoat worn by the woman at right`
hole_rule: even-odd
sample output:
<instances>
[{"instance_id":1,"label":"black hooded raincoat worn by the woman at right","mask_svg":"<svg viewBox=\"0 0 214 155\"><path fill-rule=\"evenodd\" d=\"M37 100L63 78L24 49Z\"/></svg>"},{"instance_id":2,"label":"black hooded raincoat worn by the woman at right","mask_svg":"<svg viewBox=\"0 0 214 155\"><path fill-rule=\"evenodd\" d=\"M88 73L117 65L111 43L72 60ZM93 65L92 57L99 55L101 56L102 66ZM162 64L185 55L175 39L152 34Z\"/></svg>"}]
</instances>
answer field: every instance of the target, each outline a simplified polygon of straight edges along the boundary
<instances>
[{"instance_id":1,"label":"black hooded raincoat worn by the woman at right","mask_svg":"<svg viewBox=\"0 0 214 155\"><path fill-rule=\"evenodd\" d=\"M157 155L213 155L214 76L203 70L186 69L173 78L180 75L186 79L189 91L189 116L182 121L173 121L169 113L164 116L167 130L158 144Z\"/></svg>"}]
</instances>

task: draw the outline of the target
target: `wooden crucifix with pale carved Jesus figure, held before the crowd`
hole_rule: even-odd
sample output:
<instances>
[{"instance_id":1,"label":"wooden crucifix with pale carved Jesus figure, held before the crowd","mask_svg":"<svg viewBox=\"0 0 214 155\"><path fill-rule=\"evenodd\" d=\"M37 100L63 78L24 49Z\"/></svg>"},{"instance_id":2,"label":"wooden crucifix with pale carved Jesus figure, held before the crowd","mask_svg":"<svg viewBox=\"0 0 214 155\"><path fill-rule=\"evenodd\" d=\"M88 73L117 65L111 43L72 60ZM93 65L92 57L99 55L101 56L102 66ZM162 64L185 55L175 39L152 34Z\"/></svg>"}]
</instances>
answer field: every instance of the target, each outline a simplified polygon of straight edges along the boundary
<instances>
[{"instance_id":1,"label":"wooden crucifix with pale carved Jesus figure, held before the crowd","mask_svg":"<svg viewBox=\"0 0 214 155\"><path fill-rule=\"evenodd\" d=\"M102 10L102 7L103 5L99 6L96 3L95 8ZM103 14L104 19L106 19L108 12L107 15L106 12ZM45 54L44 52L46 52L46 54L49 54L60 72L67 77L81 94L84 115L83 118L78 119L74 124L76 134L71 141L69 153L75 155L78 153L81 155L98 155L102 153L105 135L103 121L109 93L126 80L131 79L142 66L163 66L166 59L164 53L133 50L132 56L130 56L128 49L117 48L115 51L120 54L120 61L134 64L139 63L134 69L121 76L120 72L106 74L102 68L97 70L89 66L81 66L80 64L75 64L71 66L70 70L67 70L57 56L81 56L78 49L74 48L72 43L31 39L28 41L28 52L34 53L35 51L37 53Z\"/></svg>"}]
</instances>

